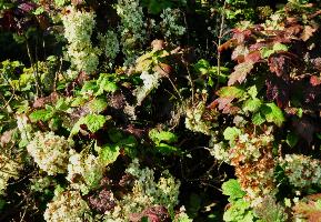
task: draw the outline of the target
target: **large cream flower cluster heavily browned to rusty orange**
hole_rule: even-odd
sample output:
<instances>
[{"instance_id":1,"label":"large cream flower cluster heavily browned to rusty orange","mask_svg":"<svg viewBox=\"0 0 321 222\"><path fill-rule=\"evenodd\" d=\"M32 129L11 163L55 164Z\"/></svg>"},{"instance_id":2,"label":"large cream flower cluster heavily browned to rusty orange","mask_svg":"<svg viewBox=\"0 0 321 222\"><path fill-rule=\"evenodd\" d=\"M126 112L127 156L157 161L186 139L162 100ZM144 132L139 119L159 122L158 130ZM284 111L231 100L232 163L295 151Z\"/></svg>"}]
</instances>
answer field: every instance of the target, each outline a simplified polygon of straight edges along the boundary
<instances>
[{"instance_id":1,"label":"large cream flower cluster heavily browned to rusty orange","mask_svg":"<svg viewBox=\"0 0 321 222\"><path fill-rule=\"evenodd\" d=\"M232 145L218 143L215 140L212 142L211 154L235 168L235 175L252 206L260 205L265 196L278 192L274 183L272 141L273 135L269 133L242 133L234 139Z\"/></svg>"}]
</instances>

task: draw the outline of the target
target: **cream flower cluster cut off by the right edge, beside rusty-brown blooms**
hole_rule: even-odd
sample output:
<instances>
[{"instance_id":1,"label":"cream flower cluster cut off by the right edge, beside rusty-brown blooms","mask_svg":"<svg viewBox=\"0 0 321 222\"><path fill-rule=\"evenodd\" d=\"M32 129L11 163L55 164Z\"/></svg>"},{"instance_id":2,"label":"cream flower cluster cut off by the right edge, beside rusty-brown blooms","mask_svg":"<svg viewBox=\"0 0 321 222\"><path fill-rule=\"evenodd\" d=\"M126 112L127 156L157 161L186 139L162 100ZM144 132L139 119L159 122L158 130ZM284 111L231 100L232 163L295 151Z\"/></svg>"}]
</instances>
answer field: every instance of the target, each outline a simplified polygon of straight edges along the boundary
<instances>
[{"instance_id":1,"label":"cream flower cluster cut off by the right edge, beside rusty-brown blooms","mask_svg":"<svg viewBox=\"0 0 321 222\"><path fill-rule=\"evenodd\" d=\"M321 184L321 161L302 154L287 154L280 159L289 181L295 188L309 188Z\"/></svg>"}]
</instances>

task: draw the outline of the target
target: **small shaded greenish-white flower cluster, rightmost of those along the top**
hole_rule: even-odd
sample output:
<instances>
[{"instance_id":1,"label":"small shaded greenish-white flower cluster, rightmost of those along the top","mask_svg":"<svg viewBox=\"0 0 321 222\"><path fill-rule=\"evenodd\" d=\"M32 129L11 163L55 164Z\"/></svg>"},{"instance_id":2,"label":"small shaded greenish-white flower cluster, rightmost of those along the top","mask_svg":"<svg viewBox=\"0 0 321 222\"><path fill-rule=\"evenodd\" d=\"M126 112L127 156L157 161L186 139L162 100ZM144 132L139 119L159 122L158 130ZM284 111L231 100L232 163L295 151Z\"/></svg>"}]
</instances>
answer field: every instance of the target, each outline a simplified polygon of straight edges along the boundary
<instances>
[{"instance_id":1,"label":"small shaded greenish-white flower cluster, rightmost of those along the top","mask_svg":"<svg viewBox=\"0 0 321 222\"><path fill-rule=\"evenodd\" d=\"M167 8L160 16L162 18L162 29L164 37L178 37L185 33L185 28L178 24L180 19L180 11L178 9Z\"/></svg>"}]
</instances>

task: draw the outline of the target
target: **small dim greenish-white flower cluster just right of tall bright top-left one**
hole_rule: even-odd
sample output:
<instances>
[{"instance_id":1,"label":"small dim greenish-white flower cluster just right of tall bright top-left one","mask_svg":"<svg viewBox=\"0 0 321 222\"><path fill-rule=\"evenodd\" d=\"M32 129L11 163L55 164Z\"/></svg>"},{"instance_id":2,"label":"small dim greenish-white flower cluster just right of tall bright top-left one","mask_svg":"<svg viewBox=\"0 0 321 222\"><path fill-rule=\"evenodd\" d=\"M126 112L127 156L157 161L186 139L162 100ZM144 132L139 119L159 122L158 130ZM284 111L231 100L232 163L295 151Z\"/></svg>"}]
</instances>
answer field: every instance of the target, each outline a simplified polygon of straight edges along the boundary
<instances>
[{"instance_id":1,"label":"small dim greenish-white flower cluster just right of tall bright top-left one","mask_svg":"<svg viewBox=\"0 0 321 222\"><path fill-rule=\"evenodd\" d=\"M119 41L117 33L109 30L104 36L98 36L103 53L108 59L113 60L119 52Z\"/></svg>"}]
</instances>

